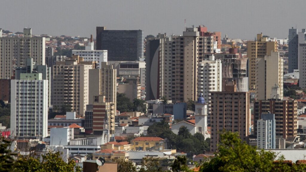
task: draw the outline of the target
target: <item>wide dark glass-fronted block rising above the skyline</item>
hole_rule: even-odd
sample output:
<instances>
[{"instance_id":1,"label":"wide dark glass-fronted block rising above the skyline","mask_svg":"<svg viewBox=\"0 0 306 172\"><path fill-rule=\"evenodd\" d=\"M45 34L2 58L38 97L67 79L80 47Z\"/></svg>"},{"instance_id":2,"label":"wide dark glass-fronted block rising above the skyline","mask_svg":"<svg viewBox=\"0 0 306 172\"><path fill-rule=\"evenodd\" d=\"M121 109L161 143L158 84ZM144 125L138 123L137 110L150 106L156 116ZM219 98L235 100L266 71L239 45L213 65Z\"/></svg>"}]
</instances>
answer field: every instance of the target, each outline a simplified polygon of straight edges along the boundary
<instances>
[{"instance_id":1,"label":"wide dark glass-fronted block rising above the skyline","mask_svg":"<svg viewBox=\"0 0 306 172\"><path fill-rule=\"evenodd\" d=\"M142 30L106 30L97 27L97 50L107 50L109 61L139 61L144 58Z\"/></svg>"}]
</instances>

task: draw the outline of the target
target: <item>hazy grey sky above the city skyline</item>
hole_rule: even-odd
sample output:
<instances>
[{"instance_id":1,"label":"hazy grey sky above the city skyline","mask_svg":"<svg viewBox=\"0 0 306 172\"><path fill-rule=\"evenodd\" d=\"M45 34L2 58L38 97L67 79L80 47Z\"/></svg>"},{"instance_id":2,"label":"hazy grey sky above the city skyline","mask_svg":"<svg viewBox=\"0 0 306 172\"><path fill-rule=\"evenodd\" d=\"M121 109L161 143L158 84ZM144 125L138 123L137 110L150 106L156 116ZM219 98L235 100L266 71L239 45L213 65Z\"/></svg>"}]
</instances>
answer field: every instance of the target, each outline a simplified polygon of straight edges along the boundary
<instances>
[{"instance_id":1,"label":"hazy grey sky above the city skyline","mask_svg":"<svg viewBox=\"0 0 306 172\"><path fill-rule=\"evenodd\" d=\"M288 29L306 27L306 1L288 0L2 0L0 28L33 34L95 37L96 26L182 34L207 26L222 38L254 39L257 33L284 39Z\"/></svg>"}]
</instances>

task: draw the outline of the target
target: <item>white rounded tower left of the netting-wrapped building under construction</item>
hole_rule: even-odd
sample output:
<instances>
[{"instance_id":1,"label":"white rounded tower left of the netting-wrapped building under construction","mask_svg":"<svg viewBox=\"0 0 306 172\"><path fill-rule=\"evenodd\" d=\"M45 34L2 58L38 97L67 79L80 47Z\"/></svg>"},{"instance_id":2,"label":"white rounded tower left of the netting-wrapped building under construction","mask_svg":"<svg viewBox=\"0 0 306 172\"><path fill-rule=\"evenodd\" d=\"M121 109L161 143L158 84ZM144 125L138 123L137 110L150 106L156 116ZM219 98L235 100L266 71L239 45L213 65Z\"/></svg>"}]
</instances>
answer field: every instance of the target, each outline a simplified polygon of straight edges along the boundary
<instances>
[{"instance_id":1,"label":"white rounded tower left of the netting-wrapped building under construction","mask_svg":"<svg viewBox=\"0 0 306 172\"><path fill-rule=\"evenodd\" d=\"M198 66L197 95L203 95L204 101L209 102L210 92L222 91L222 64L215 60L212 54L209 60L203 60Z\"/></svg>"}]
</instances>

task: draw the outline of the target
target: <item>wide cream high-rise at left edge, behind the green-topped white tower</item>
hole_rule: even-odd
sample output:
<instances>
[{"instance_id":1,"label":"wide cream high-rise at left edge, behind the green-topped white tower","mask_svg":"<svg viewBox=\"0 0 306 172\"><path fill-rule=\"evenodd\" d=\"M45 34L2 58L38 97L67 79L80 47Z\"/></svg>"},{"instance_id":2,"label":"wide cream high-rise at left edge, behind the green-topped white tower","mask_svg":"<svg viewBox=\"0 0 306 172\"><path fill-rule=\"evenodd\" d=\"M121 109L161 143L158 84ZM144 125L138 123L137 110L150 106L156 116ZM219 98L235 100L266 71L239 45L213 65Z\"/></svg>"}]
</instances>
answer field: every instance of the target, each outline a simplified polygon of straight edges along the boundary
<instances>
[{"instance_id":1,"label":"wide cream high-rise at left edge, behind the green-topped white tower","mask_svg":"<svg viewBox=\"0 0 306 172\"><path fill-rule=\"evenodd\" d=\"M11 79L16 67L25 67L27 58L45 65L45 38L32 37L31 28L24 28L23 37L0 36L0 47L0 79Z\"/></svg>"}]
</instances>

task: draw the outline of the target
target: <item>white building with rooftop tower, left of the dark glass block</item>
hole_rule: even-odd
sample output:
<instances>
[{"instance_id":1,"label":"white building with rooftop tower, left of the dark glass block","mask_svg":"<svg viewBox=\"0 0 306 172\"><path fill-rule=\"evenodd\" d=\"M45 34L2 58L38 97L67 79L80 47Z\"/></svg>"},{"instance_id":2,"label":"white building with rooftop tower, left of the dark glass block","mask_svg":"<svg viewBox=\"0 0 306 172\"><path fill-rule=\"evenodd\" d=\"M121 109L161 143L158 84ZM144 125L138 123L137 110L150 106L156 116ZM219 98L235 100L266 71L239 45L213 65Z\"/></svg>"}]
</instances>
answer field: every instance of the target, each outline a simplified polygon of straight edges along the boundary
<instances>
[{"instance_id":1,"label":"white building with rooftop tower, left of the dark glass block","mask_svg":"<svg viewBox=\"0 0 306 172\"><path fill-rule=\"evenodd\" d=\"M85 50L72 50L72 55L79 55L85 62L97 61L97 69L100 69L102 62L107 62L107 50L95 50L92 35Z\"/></svg>"}]
</instances>

